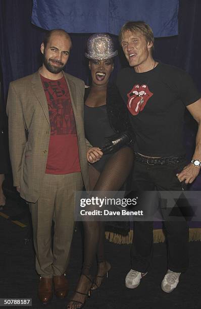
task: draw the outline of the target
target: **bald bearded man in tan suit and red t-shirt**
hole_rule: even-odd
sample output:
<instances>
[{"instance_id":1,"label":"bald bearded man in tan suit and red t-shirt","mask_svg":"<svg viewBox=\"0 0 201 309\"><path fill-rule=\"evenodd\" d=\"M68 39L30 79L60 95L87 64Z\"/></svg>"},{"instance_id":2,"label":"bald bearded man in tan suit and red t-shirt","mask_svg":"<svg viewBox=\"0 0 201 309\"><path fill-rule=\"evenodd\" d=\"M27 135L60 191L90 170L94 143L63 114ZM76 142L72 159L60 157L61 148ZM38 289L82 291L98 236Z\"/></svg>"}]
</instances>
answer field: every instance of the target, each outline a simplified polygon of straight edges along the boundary
<instances>
[{"instance_id":1,"label":"bald bearded man in tan suit and red t-shirt","mask_svg":"<svg viewBox=\"0 0 201 309\"><path fill-rule=\"evenodd\" d=\"M88 189L84 82L62 71L72 42L60 29L41 44L38 72L11 82L7 103L14 186L30 205L39 299L64 298L76 190ZM51 229L54 221L52 250Z\"/></svg>"}]
</instances>

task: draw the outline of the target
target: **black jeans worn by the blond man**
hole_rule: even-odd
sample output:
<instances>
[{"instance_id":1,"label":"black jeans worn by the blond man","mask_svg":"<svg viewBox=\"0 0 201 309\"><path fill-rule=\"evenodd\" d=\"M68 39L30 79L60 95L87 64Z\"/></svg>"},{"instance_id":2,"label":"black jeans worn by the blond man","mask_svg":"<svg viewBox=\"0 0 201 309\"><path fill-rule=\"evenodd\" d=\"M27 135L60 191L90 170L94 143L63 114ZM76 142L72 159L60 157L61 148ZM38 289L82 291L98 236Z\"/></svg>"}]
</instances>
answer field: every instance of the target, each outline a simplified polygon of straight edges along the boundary
<instances>
[{"instance_id":1,"label":"black jeans worn by the blond man","mask_svg":"<svg viewBox=\"0 0 201 309\"><path fill-rule=\"evenodd\" d=\"M186 162L173 166L147 165L135 162L133 190L180 191L182 184L176 174ZM188 268L188 225L186 221L164 221L168 244L168 269L181 273ZM134 222L134 237L131 247L131 268L145 273L150 268L153 256L153 222Z\"/></svg>"}]
</instances>

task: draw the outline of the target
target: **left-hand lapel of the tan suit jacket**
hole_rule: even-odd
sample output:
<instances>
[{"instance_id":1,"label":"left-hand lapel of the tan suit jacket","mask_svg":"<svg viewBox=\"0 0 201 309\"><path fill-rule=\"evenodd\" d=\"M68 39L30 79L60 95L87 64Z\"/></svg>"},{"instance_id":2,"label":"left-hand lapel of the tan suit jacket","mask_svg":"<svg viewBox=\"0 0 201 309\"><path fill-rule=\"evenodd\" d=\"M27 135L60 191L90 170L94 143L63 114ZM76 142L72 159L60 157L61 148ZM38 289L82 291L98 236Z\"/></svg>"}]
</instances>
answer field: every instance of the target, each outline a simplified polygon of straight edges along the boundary
<instances>
[{"instance_id":1,"label":"left-hand lapel of the tan suit jacket","mask_svg":"<svg viewBox=\"0 0 201 309\"><path fill-rule=\"evenodd\" d=\"M45 115L45 118L46 118L48 124L50 124L49 123L49 111L48 111L47 100L46 100L46 96L45 96L44 89L43 89L43 86L42 86L42 82L41 82L41 79L40 79L39 71L36 72L33 75L32 89L33 89L33 92L34 92L39 104L41 105L41 108L44 112L44 115Z\"/></svg>"}]
</instances>

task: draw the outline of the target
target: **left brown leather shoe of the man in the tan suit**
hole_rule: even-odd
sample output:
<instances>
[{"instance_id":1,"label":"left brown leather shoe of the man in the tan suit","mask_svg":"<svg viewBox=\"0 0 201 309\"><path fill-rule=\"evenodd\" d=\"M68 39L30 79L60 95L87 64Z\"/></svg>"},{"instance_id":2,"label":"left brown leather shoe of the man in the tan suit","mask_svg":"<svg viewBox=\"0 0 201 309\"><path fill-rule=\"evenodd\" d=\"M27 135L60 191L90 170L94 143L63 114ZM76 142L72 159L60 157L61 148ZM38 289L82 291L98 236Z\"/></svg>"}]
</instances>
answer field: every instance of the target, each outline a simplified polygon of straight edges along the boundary
<instances>
[{"instance_id":1,"label":"left brown leather shoe of the man in the tan suit","mask_svg":"<svg viewBox=\"0 0 201 309\"><path fill-rule=\"evenodd\" d=\"M38 286L38 298L43 304L47 304L53 297L53 278L41 277Z\"/></svg>"}]
</instances>

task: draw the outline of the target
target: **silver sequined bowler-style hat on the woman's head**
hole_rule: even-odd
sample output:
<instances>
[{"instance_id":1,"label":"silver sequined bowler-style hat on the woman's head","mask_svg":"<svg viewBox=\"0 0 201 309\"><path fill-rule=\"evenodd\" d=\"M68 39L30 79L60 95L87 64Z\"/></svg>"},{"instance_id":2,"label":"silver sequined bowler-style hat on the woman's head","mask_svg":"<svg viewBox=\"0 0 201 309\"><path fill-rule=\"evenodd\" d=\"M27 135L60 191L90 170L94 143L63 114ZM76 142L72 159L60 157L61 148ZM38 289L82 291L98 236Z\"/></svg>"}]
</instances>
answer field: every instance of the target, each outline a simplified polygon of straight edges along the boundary
<instances>
[{"instance_id":1,"label":"silver sequined bowler-style hat on the woman's head","mask_svg":"<svg viewBox=\"0 0 201 309\"><path fill-rule=\"evenodd\" d=\"M85 57L93 60L106 60L117 56L113 39L107 33L95 33L88 38Z\"/></svg>"}]
</instances>

